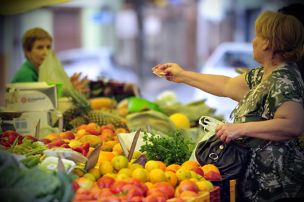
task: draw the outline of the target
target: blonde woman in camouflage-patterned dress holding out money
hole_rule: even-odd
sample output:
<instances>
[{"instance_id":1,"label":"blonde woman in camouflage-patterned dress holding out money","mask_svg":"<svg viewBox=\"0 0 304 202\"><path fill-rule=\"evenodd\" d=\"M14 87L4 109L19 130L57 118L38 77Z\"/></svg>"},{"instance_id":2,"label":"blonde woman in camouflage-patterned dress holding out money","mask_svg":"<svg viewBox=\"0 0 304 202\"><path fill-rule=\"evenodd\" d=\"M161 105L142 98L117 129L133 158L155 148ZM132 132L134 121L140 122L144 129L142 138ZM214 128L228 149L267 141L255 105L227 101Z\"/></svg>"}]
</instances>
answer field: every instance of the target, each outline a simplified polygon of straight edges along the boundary
<instances>
[{"instance_id":1,"label":"blonde woman in camouflage-patterned dress holding out money","mask_svg":"<svg viewBox=\"0 0 304 202\"><path fill-rule=\"evenodd\" d=\"M304 53L304 28L293 16L263 12L255 23L254 60L260 67L237 77L206 75L177 64L160 67L166 79L239 104L233 124L216 127L223 142L253 149L240 179L246 201L304 197L304 87L295 64ZM263 149L256 149L265 141Z\"/></svg>"}]
</instances>

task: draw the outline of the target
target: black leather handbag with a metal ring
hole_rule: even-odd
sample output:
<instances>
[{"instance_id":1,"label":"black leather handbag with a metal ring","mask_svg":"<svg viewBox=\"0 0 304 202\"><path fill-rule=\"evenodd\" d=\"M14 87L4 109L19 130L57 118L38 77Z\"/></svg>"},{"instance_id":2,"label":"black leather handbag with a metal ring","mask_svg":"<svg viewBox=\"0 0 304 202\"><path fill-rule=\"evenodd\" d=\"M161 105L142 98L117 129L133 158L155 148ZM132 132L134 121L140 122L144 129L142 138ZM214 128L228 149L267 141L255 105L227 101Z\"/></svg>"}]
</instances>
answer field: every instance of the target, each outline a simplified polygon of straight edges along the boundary
<instances>
[{"instance_id":1,"label":"black leather handbag with a metal ring","mask_svg":"<svg viewBox=\"0 0 304 202\"><path fill-rule=\"evenodd\" d=\"M233 140L227 144L212 135L209 139L199 142L195 157L201 166L212 164L219 169L221 175L230 176L230 180L233 180L242 176L250 153Z\"/></svg>"}]
</instances>

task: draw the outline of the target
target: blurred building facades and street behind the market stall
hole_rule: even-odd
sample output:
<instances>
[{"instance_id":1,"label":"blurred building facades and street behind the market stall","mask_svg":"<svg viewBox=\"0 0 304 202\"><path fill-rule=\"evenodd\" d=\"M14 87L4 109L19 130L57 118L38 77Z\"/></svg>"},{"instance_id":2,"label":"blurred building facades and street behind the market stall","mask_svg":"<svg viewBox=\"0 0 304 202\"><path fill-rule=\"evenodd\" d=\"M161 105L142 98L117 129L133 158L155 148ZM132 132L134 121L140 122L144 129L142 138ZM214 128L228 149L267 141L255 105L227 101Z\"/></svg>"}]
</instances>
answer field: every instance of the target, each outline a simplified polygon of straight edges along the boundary
<instances>
[{"instance_id":1,"label":"blurred building facades and street behind the market stall","mask_svg":"<svg viewBox=\"0 0 304 202\"><path fill-rule=\"evenodd\" d=\"M21 38L28 29L40 27L49 32L54 39L56 54L77 48L110 47L113 51L113 63L137 74L137 84L143 97L153 99L154 94L163 90L179 88L181 93L178 98L186 102L190 100L192 89L158 78L152 74L151 68L159 63L170 62L178 63L185 70L198 72L219 44L251 42L254 39L254 21L262 11L277 11L289 4L303 1L62 2L65 3L0 15L0 105L4 105L5 84L11 82L25 61Z\"/></svg>"}]
</instances>

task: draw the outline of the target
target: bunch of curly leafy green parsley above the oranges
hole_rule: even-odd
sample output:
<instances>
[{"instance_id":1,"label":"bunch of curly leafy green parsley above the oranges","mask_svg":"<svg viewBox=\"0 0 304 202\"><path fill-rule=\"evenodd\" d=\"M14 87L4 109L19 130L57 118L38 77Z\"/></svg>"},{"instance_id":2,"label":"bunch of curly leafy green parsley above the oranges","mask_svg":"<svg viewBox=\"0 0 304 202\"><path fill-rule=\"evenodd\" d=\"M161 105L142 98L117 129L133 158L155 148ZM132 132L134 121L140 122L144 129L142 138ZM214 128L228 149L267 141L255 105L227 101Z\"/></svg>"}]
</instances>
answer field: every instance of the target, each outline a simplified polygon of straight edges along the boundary
<instances>
[{"instance_id":1,"label":"bunch of curly leafy green parsley above the oranges","mask_svg":"<svg viewBox=\"0 0 304 202\"><path fill-rule=\"evenodd\" d=\"M146 144L141 146L139 151L147 152L145 155L148 160L166 162L167 165L182 164L188 161L192 154L189 148L193 148L196 143L192 143L192 138L186 142L179 130L174 130L173 134L167 130L166 133L168 136L160 138L153 132L150 132L150 137L144 132L143 140ZM148 144L148 141L151 143Z\"/></svg>"}]
</instances>

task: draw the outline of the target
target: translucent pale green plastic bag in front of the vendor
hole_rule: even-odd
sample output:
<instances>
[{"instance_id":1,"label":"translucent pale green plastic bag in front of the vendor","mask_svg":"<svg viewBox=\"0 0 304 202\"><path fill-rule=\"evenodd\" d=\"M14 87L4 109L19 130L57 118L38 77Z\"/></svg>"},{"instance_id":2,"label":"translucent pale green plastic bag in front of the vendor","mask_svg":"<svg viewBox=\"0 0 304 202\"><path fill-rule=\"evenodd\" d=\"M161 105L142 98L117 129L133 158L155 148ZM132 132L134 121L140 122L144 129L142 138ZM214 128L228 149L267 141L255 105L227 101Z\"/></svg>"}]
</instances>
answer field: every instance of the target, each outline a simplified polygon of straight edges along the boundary
<instances>
[{"instance_id":1,"label":"translucent pale green plastic bag in front of the vendor","mask_svg":"<svg viewBox=\"0 0 304 202\"><path fill-rule=\"evenodd\" d=\"M66 91L66 88L73 87L70 77L65 73L62 64L53 50L47 52L43 63L39 67L38 81L63 83L63 92Z\"/></svg>"}]
</instances>

